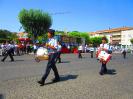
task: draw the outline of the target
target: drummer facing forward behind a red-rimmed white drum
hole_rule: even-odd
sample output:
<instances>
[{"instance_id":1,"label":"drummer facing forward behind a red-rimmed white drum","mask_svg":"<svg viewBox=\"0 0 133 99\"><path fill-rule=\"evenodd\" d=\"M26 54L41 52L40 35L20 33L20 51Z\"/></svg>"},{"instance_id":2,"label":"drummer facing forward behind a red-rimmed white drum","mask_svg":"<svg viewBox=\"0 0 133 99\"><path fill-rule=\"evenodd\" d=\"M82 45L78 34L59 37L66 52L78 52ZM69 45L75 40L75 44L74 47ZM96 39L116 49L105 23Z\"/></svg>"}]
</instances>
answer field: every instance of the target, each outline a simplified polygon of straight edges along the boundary
<instances>
[{"instance_id":1,"label":"drummer facing forward behind a red-rimmed white drum","mask_svg":"<svg viewBox=\"0 0 133 99\"><path fill-rule=\"evenodd\" d=\"M107 44L106 37L102 37L102 44L100 44L100 50L106 51L108 53L109 45ZM99 74L104 75L107 73L106 62L103 60L100 60L100 62L102 63L102 65L101 65L101 70L100 70Z\"/></svg>"}]
</instances>

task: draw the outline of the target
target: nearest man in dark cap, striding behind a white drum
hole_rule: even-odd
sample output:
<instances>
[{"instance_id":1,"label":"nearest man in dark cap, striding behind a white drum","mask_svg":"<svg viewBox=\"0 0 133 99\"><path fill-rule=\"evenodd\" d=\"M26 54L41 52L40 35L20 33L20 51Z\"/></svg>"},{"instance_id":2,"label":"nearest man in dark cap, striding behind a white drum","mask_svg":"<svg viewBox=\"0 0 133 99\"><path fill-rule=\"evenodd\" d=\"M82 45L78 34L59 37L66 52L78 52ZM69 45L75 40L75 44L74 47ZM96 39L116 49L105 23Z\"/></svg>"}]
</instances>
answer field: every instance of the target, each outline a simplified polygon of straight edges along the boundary
<instances>
[{"instance_id":1,"label":"nearest man in dark cap, striding behind a white drum","mask_svg":"<svg viewBox=\"0 0 133 99\"><path fill-rule=\"evenodd\" d=\"M38 81L40 86L44 86L45 80L47 79L51 69L54 71L54 75L55 75L53 82L60 81L58 70L55 65L56 58L58 55L58 53L57 53L58 44L57 44L57 40L54 38L54 33L55 33L55 30L52 30L52 29L48 30L48 34L47 34L48 42L46 43L46 47L48 48L49 59L48 59L46 71L45 71L44 75L42 76L42 79L40 81Z\"/></svg>"}]
</instances>

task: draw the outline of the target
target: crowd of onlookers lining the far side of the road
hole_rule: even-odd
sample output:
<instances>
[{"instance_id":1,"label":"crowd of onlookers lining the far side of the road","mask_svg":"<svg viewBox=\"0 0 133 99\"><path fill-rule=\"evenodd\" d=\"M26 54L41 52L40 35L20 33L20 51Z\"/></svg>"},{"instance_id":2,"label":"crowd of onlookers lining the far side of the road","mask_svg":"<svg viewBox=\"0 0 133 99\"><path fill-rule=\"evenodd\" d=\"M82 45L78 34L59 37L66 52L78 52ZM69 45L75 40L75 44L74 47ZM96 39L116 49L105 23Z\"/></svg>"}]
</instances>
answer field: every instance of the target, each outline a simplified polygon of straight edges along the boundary
<instances>
[{"instance_id":1,"label":"crowd of onlookers lining the far side of the road","mask_svg":"<svg viewBox=\"0 0 133 99\"><path fill-rule=\"evenodd\" d=\"M30 42L27 43L13 43L10 42L10 44L13 46L14 49L14 53L13 55L23 55L23 54L30 54L30 53L36 53L37 49L40 46L44 46L44 44L33 44ZM0 43L0 55L4 55L5 52L5 48L7 46L7 43ZM92 51L97 51L99 46L97 47L93 47L92 45L79 45L79 46L64 46L62 45L62 53L78 53L78 51L80 50L82 53L89 53ZM129 51L128 49L124 48L127 52ZM123 48L120 47L115 47L110 45L110 51L112 52L121 52L123 50ZM133 51L130 51L133 52Z\"/></svg>"}]
</instances>

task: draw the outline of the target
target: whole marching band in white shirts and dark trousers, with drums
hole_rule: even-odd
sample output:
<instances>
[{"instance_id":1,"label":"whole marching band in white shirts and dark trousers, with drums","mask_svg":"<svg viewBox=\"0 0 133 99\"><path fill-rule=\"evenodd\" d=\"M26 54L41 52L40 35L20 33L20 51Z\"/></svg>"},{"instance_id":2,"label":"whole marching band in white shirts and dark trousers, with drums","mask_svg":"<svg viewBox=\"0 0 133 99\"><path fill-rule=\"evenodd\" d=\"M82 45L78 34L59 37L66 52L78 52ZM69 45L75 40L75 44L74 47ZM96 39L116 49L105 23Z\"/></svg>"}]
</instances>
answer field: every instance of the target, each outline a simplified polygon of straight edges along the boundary
<instances>
[{"instance_id":1,"label":"whole marching band in white shirts and dark trousers, with drums","mask_svg":"<svg viewBox=\"0 0 133 99\"><path fill-rule=\"evenodd\" d=\"M59 76L59 73L58 73L58 70L56 67L56 62L58 61L59 63L61 63L60 56L61 56L62 46L61 46L61 43L57 39L54 38L54 34L55 34L55 30L49 29L48 33L47 33L48 40L47 40L46 44L41 47L38 47L36 44L33 45L36 62L40 62L43 60L48 61L44 75L42 76L40 81L38 81L40 86L45 85L45 81L46 81L51 69L54 71L54 75L55 75L53 82L60 81L60 76ZM29 53L30 52L30 44L28 43L26 46L27 46L26 48L28 48L27 53ZM10 56L11 61L14 61L14 58L13 58L14 46L13 46L13 44L8 43L8 44L5 44L5 46L1 45L1 47L4 48L4 50L5 50L4 57L1 61L4 62L8 55ZM93 58L93 53L94 53L95 49L93 48L93 46L89 46L89 47L90 47L89 52L91 53L91 58ZM86 48L86 50L87 49L88 48ZM83 52L83 46L80 45L78 47L78 58L82 58L82 54L81 54L82 52ZM85 51L85 52L87 52L87 51ZM106 37L102 38L102 44L100 44L100 46L96 50L96 57L102 64L99 74L100 75L106 74L107 73L106 64L111 59L110 46L109 46L109 44L107 44Z\"/></svg>"}]
</instances>

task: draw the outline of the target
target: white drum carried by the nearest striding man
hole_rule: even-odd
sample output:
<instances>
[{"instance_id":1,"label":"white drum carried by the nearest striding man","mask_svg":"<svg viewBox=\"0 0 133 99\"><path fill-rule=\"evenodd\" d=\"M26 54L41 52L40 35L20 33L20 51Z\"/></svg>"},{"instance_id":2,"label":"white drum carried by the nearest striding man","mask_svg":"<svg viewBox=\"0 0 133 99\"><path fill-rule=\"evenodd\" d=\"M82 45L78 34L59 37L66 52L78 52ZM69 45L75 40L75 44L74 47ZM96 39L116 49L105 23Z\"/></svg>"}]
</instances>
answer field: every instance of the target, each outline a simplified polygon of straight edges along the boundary
<instances>
[{"instance_id":1,"label":"white drum carried by the nearest striding man","mask_svg":"<svg viewBox=\"0 0 133 99\"><path fill-rule=\"evenodd\" d=\"M35 61L40 62L43 60L48 60L48 50L46 48L40 47L38 48L35 56Z\"/></svg>"}]
</instances>

